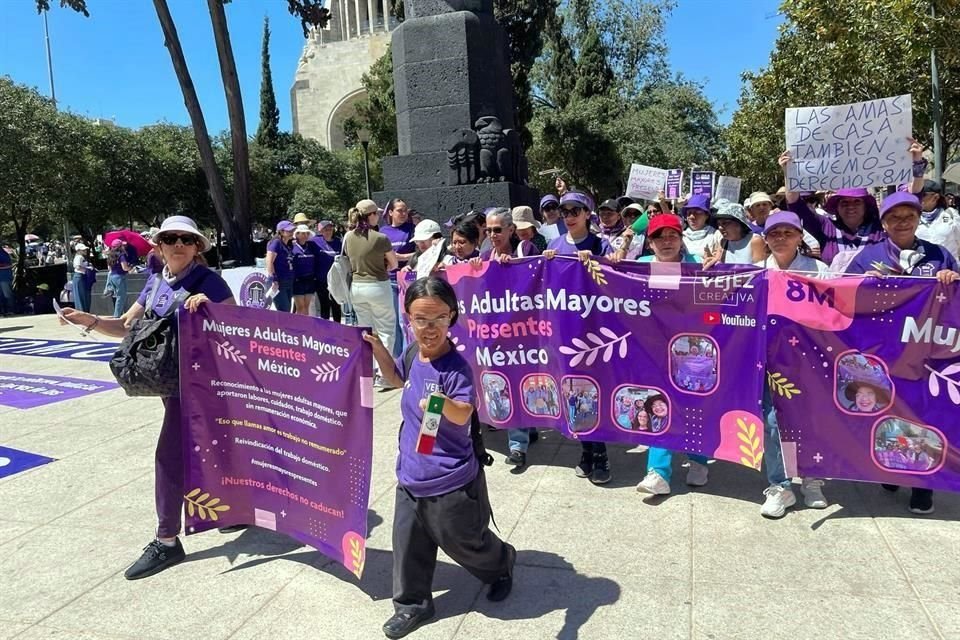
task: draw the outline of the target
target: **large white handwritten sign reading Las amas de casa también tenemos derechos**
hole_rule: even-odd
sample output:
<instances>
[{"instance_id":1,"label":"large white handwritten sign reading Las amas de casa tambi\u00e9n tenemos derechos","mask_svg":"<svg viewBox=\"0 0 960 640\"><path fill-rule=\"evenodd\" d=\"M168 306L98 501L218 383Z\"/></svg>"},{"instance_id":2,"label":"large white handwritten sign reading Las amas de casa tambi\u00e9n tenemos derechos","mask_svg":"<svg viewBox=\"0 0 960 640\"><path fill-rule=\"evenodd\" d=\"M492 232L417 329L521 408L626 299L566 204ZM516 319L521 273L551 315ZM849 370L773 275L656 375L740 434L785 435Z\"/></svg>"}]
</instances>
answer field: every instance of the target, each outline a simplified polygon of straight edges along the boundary
<instances>
[{"instance_id":1,"label":"large white handwritten sign reading Las amas de casa tambi\u00e9n tenemos derechos","mask_svg":"<svg viewBox=\"0 0 960 640\"><path fill-rule=\"evenodd\" d=\"M913 179L909 95L786 110L789 191L902 184Z\"/></svg>"}]
</instances>

